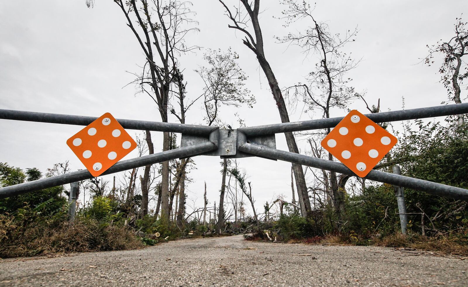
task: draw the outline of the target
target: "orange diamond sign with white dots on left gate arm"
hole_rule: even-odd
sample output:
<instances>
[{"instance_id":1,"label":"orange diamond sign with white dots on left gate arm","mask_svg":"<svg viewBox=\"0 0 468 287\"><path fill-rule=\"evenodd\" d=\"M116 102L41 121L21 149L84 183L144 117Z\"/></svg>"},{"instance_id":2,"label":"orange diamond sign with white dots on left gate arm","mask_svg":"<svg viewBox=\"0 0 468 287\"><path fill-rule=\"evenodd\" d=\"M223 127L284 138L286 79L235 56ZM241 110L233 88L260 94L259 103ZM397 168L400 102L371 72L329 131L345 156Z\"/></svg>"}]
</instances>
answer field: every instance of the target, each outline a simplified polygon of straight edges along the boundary
<instances>
[{"instance_id":1,"label":"orange diamond sign with white dots on left gate arm","mask_svg":"<svg viewBox=\"0 0 468 287\"><path fill-rule=\"evenodd\" d=\"M105 113L66 141L93 177L128 155L137 143L110 113Z\"/></svg>"}]
</instances>

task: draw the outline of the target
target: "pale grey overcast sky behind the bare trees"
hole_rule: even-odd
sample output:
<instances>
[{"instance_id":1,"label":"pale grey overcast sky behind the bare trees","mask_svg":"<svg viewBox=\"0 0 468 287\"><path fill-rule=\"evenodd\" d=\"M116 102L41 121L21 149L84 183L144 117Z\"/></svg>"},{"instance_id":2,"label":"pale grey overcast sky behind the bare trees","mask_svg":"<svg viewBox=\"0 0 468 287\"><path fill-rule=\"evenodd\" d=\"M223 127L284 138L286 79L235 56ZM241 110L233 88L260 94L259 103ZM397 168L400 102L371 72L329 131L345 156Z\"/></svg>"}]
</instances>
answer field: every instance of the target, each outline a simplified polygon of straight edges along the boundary
<instances>
[{"instance_id":1,"label":"pale grey overcast sky behind the bare trees","mask_svg":"<svg viewBox=\"0 0 468 287\"><path fill-rule=\"evenodd\" d=\"M0 108L63 113L99 117L110 112L115 118L161 120L154 102L145 95L135 95L135 87L124 87L138 73L145 61L137 41L126 26L124 15L112 0L96 0L88 9L84 0L0 1ZM239 110L246 125L280 122L278 110L253 53L242 44L239 32L228 29L229 23L217 0L194 0L195 20L200 32L186 38L187 44L239 53L239 63L249 76L247 88L256 96L253 109ZM237 1L227 0L235 4ZM299 49L277 44L273 36L294 30L283 28L282 7L276 0L261 1L260 24L263 29L267 59L282 87L304 81L317 59L306 58ZM457 2L456 7L447 2ZM427 54L426 44L453 35L455 18L468 11L468 2L459 1L317 1L314 16L329 24L332 33L344 33L358 27L356 42L345 46L358 67L350 72L357 91L366 91L366 100L382 110L438 105L446 99L446 90L436 74L438 66L420 64ZM302 22L295 28L306 27ZM204 65L204 49L181 57L188 81L188 97L202 93L202 84L193 72ZM367 113L362 101L350 105ZM291 120L309 119L299 108ZM237 127L235 110L222 109L221 117ZM332 116L344 116L336 112ZM187 123L202 123L201 103L187 114ZM169 119L176 122L176 118ZM66 140L81 126L55 125L0 120L0 162L23 169L43 171L54 163L70 160L72 170L83 165L66 145ZM141 131L128 130L134 137ZM162 134L153 132L161 149ZM287 149L284 135L276 136L277 147ZM306 143L299 143L302 151ZM124 159L136 156L135 152ZM189 200L202 205L203 186L208 186L208 200L218 202L221 185L218 157L197 157L197 169L190 172ZM284 194L291 199L290 163L258 158L238 160L246 168L253 184L257 208ZM261 208L263 211L263 208Z\"/></svg>"}]
</instances>

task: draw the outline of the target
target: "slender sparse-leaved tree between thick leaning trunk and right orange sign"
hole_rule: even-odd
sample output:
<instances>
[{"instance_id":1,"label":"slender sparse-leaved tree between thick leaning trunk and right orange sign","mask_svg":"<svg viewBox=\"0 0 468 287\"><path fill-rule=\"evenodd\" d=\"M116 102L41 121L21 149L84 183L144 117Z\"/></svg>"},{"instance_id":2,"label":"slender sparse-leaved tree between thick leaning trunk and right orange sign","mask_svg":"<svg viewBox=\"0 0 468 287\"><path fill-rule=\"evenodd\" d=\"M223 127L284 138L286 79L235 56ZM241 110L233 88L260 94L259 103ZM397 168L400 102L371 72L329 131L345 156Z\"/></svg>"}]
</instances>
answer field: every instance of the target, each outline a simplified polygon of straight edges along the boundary
<instances>
[{"instance_id":1,"label":"slender sparse-leaved tree between thick leaning trunk and right orange sign","mask_svg":"<svg viewBox=\"0 0 468 287\"><path fill-rule=\"evenodd\" d=\"M312 15L313 9L306 1L282 0L286 6L282 19L285 26L300 20L310 21L304 31L297 34L288 34L279 38L281 43L295 44L300 46L307 56L316 55L319 63L307 76L307 84L297 84L287 88L288 96L302 97L307 104L308 110L321 110L323 118L330 118L332 109L349 110L347 105L358 99L360 95L349 86L350 78L345 75L358 65L358 61L351 59L350 55L341 51L341 48L355 40L357 29L347 30L341 37L339 34L332 35L329 27L324 22L318 22ZM315 135L323 137L330 132L327 128L324 132ZM333 161L329 153L328 159ZM349 176L337 175L336 172L322 171L327 183L330 184L331 198L337 213L344 211L344 185Z\"/></svg>"}]
</instances>

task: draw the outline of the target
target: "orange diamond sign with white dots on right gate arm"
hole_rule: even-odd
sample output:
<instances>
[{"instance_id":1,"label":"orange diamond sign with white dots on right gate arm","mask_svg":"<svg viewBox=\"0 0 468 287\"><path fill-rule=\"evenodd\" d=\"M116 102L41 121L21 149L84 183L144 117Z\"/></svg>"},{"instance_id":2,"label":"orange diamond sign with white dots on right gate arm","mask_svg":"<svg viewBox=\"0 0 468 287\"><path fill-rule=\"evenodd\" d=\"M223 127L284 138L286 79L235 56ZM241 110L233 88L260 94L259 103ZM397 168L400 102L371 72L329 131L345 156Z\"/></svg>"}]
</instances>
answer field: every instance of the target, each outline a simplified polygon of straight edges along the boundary
<instances>
[{"instance_id":1,"label":"orange diamond sign with white dots on right gate arm","mask_svg":"<svg viewBox=\"0 0 468 287\"><path fill-rule=\"evenodd\" d=\"M396 142L395 136L380 125L351 110L321 145L358 177L366 177Z\"/></svg>"}]
</instances>

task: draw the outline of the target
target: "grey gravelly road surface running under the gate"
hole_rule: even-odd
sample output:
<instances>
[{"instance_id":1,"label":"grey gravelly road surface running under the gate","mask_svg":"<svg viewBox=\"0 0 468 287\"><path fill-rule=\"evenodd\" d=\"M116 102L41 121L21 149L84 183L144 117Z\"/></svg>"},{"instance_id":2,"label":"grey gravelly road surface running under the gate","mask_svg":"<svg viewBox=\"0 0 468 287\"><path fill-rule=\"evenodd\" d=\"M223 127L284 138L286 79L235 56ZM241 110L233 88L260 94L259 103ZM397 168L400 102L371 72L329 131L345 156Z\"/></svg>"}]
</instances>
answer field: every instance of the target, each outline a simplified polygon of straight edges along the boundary
<instances>
[{"instance_id":1,"label":"grey gravelly road surface running under the gate","mask_svg":"<svg viewBox=\"0 0 468 287\"><path fill-rule=\"evenodd\" d=\"M468 286L468 259L392 248L172 241L142 250L0 260L0 286Z\"/></svg>"}]
</instances>

